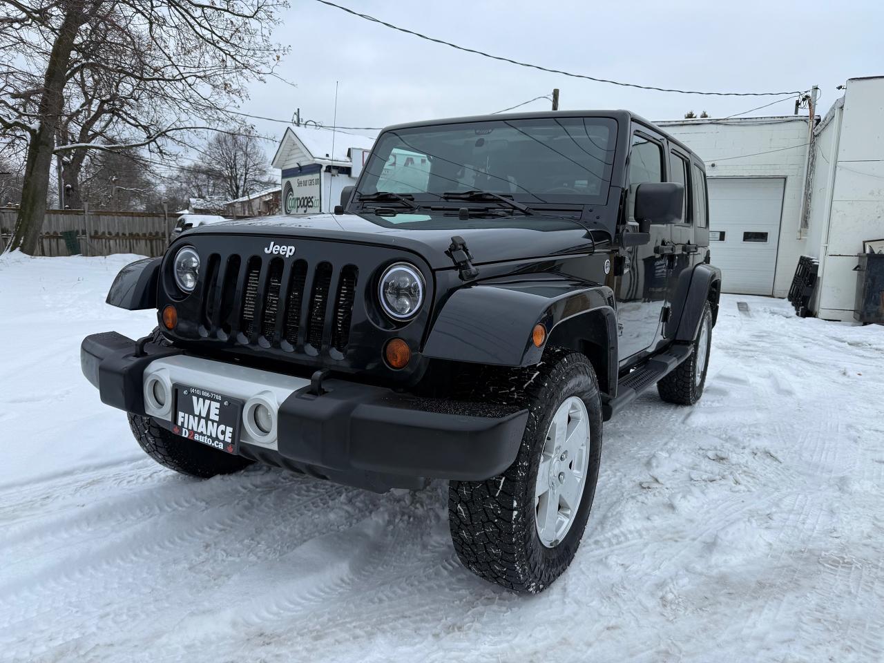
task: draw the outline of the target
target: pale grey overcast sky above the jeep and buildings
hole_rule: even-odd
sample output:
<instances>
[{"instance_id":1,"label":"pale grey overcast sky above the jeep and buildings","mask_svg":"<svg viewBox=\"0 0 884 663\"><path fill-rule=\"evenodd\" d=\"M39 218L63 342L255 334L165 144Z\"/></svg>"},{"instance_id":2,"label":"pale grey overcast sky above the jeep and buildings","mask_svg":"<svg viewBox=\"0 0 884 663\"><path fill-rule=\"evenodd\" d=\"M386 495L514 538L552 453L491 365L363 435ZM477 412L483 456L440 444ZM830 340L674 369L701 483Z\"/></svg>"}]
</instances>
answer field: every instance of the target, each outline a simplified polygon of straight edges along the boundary
<instances>
[{"instance_id":1,"label":"pale grey overcast sky above the jeep and buildings","mask_svg":"<svg viewBox=\"0 0 884 663\"><path fill-rule=\"evenodd\" d=\"M378 19L476 50L569 72L664 88L789 91L818 84L822 113L851 77L884 74L884 3L631 3L547 0L335 0ZM626 108L646 118L688 110L724 117L774 97L679 95L621 88L496 62L370 23L316 0L292 0L275 38L291 47L242 110L331 125L385 126L492 112L560 88L560 108ZM790 114L783 101L751 115ZM546 110L547 100L523 110ZM804 111L806 112L806 111ZM254 120L262 133L283 125ZM272 146L269 146L272 154Z\"/></svg>"}]
</instances>

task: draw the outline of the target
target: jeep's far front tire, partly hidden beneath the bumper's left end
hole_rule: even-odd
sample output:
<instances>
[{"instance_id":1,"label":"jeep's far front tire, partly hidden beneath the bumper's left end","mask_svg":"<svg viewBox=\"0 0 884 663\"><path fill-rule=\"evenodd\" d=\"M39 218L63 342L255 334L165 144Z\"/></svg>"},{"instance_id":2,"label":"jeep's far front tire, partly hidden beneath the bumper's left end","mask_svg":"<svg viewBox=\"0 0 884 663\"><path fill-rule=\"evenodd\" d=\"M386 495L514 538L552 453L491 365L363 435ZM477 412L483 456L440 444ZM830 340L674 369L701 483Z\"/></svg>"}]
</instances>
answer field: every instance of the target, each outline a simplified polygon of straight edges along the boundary
<instances>
[{"instance_id":1,"label":"jeep's far front tire, partly hidden beneath the bumper's left end","mask_svg":"<svg viewBox=\"0 0 884 663\"><path fill-rule=\"evenodd\" d=\"M151 340L160 345L170 345L157 327ZM234 456L210 446L182 438L167 431L149 416L129 414L129 427L138 444L160 465L188 476L208 479L218 474L231 474L250 465L242 456Z\"/></svg>"}]
</instances>

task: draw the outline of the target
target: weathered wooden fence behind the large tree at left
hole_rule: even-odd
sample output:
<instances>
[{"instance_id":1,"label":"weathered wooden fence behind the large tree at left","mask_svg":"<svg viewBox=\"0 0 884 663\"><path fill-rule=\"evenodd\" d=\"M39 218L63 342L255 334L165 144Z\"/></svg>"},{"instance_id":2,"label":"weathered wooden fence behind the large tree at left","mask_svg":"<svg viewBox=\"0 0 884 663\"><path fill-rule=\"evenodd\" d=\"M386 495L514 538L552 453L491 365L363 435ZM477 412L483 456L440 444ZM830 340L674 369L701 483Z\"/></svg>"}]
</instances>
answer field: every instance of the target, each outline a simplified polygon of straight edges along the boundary
<instances>
[{"instance_id":1,"label":"weathered wooden fence behind the large tree at left","mask_svg":"<svg viewBox=\"0 0 884 663\"><path fill-rule=\"evenodd\" d=\"M18 210L0 208L0 251L10 240ZM163 255L171 225L162 214L109 210L46 210L36 255L70 255L62 232L76 231L82 255Z\"/></svg>"}]
</instances>

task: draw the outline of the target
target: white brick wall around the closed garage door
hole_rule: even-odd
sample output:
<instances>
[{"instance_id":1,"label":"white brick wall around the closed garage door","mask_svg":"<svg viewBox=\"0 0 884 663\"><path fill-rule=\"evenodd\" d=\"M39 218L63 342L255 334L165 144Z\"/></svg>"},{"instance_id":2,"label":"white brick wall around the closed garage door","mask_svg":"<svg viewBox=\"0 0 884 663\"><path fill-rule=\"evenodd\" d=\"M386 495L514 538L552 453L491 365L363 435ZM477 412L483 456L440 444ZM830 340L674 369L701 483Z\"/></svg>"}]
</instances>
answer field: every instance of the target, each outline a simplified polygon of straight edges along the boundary
<instances>
[{"instance_id":1,"label":"white brick wall around the closed garage door","mask_svg":"<svg viewBox=\"0 0 884 663\"><path fill-rule=\"evenodd\" d=\"M787 116L686 119L656 123L704 160L706 177L786 179L773 280L773 294L777 297L785 297L789 293L798 257L804 253L806 244L806 240L798 239L798 231L807 159L807 121L806 117Z\"/></svg>"}]
</instances>

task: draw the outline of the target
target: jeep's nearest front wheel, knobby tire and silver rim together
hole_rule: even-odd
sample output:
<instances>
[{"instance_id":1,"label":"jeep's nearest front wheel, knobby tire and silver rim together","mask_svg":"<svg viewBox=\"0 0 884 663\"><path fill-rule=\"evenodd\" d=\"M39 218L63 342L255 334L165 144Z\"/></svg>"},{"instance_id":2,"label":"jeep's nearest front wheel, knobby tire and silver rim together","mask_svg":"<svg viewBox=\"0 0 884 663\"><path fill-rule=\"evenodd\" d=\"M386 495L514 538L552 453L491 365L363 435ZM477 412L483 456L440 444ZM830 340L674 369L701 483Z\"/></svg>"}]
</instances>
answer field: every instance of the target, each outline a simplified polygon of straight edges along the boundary
<instances>
[{"instance_id":1,"label":"jeep's nearest front wheel, knobby tire and silver rim together","mask_svg":"<svg viewBox=\"0 0 884 663\"><path fill-rule=\"evenodd\" d=\"M530 368L528 422L514 463L480 482L453 481L448 523L473 573L538 593L558 578L583 537L602 443L598 383L583 354L548 350Z\"/></svg>"}]
</instances>

